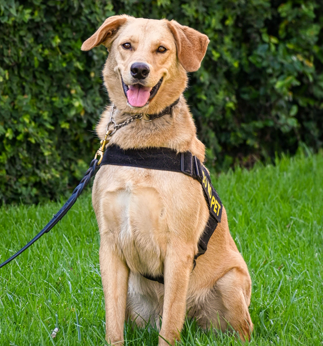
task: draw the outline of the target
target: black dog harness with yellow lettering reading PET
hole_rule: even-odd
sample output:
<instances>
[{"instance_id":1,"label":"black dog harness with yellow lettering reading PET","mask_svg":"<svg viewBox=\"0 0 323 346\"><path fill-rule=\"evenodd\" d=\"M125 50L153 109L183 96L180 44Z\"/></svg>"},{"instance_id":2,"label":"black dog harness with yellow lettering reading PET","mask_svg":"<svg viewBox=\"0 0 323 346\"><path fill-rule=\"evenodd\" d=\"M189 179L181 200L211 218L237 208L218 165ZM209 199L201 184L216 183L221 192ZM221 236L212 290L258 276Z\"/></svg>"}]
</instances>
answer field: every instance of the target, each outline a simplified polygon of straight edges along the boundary
<instances>
[{"instance_id":1,"label":"black dog harness with yellow lettering reading PET","mask_svg":"<svg viewBox=\"0 0 323 346\"><path fill-rule=\"evenodd\" d=\"M199 181L203 186L205 199L209 204L209 218L201 235L197 247L196 258L203 255L207 250L207 244L212 236L218 222L221 222L222 203L214 189L210 176L200 160L190 152L177 153L170 148L147 148L147 149L121 149L117 145L107 147L101 165L116 165L139 167L159 171L171 171L186 174ZM152 276L147 273L141 274L146 279L164 283L164 276Z\"/></svg>"}]
</instances>

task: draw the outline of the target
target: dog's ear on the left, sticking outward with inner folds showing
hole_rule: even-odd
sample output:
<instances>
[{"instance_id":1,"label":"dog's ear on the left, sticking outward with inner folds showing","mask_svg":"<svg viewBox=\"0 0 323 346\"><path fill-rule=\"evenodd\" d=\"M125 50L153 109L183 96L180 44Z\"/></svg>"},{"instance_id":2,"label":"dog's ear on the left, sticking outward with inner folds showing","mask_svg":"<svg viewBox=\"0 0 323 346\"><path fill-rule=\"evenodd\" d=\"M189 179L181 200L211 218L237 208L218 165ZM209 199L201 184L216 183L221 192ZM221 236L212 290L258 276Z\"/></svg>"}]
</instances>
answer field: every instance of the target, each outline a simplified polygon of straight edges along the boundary
<instances>
[{"instance_id":1,"label":"dog's ear on the left, sticking outward with inner folds showing","mask_svg":"<svg viewBox=\"0 0 323 346\"><path fill-rule=\"evenodd\" d=\"M89 51L93 47L99 46L101 43L107 48L113 42L113 37L130 17L127 15L112 16L107 18L99 29L86 41L83 42L81 50Z\"/></svg>"}]
</instances>

